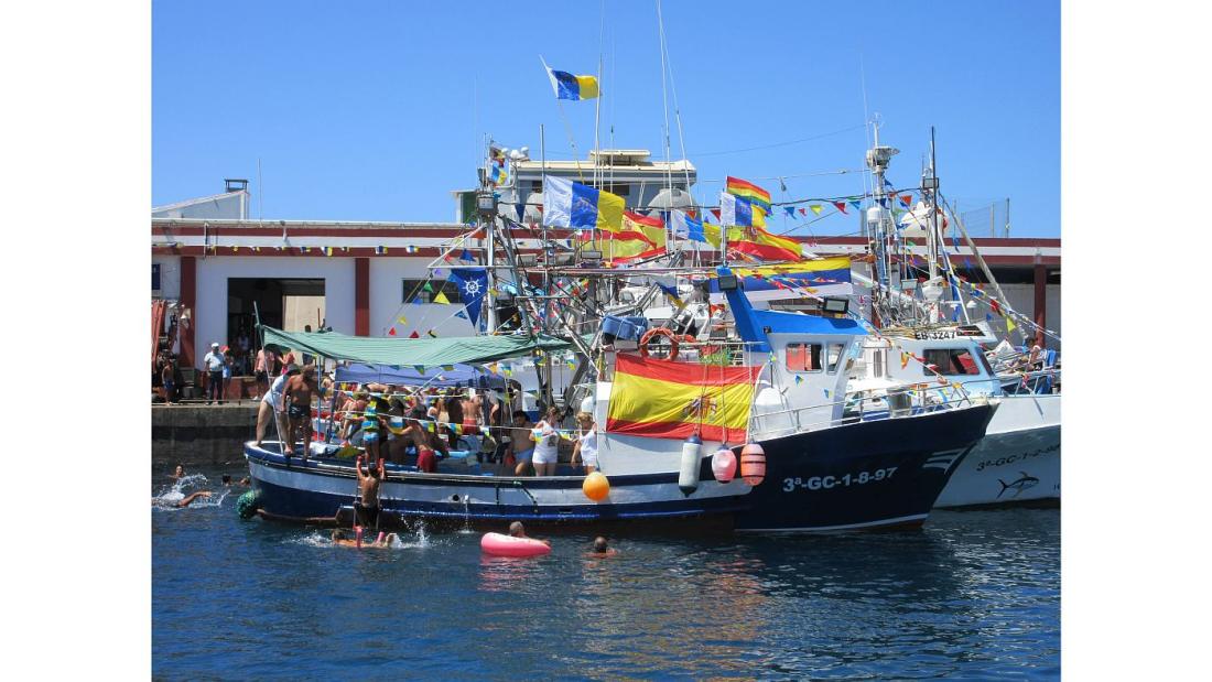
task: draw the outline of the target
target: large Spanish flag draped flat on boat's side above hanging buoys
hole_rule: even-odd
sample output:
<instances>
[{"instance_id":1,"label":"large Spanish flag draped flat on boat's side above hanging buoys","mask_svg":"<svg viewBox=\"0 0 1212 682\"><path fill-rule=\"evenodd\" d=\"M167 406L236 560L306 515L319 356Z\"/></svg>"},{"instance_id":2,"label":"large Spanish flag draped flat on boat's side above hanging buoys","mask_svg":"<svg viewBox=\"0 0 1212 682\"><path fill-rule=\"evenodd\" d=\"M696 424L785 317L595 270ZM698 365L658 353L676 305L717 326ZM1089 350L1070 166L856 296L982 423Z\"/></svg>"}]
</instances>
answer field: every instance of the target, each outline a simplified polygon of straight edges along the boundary
<instances>
[{"instance_id":1,"label":"large Spanish flag draped flat on boat's side above hanging buoys","mask_svg":"<svg viewBox=\"0 0 1212 682\"><path fill-rule=\"evenodd\" d=\"M742 443L761 366L721 367L619 355L606 431Z\"/></svg>"}]
</instances>

